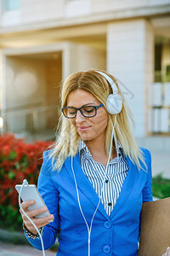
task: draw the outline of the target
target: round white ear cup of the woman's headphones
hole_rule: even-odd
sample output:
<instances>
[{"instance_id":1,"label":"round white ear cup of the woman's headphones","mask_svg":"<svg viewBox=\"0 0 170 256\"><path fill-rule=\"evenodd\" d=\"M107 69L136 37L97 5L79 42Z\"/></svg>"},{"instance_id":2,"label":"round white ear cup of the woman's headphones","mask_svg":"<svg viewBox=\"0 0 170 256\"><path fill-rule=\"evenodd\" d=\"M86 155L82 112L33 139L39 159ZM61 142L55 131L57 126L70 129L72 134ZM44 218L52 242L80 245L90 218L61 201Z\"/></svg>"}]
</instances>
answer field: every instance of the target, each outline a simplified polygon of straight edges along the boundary
<instances>
[{"instance_id":1,"label":"round white ear cup of the woman's headphones","mask_svg":"<svg viewBox=\"0 0 170 256\"><path fill-rule=\"evenodd\" d=\"M111 114L120 113L122 110L122 97L118 94L110 94L106 101L106 109Z\"/></svg>"}]
</instances>

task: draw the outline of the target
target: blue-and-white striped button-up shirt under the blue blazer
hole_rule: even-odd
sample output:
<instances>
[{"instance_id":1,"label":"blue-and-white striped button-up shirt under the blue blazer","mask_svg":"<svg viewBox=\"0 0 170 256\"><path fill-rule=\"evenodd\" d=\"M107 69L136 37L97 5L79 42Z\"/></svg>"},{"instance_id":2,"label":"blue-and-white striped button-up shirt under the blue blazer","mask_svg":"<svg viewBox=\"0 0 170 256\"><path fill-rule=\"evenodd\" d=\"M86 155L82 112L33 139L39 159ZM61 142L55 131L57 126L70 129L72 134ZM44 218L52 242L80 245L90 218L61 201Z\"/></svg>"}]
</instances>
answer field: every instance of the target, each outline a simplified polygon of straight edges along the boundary
<instances>
[{"instance_id":1,"label":"blue-and-white striped button-up shirt under the blue blazer","mask_svg":"<svg viewBox=\"0 0 170 256\"><path fill-rule=\"evenodd\" d=\"M128 172L127 160L122 146L118 143L117 156L109 162L107 168L93 159L88 147L82 140L79 145L79 154L82 171L92 183L99 197L101 196L101 202L105 207L105 212L110 216ZM100 195L102 185L103 192Z\"/></svg>"}]
</instances>

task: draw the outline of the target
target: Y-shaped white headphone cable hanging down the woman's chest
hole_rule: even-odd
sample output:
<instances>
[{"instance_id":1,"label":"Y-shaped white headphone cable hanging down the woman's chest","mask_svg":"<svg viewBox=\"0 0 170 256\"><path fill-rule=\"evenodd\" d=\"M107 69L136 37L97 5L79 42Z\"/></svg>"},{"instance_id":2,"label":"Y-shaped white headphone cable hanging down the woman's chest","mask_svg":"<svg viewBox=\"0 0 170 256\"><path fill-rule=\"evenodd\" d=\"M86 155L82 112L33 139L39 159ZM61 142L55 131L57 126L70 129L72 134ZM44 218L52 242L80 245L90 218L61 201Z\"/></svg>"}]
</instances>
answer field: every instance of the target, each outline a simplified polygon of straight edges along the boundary
<instances>
[{"instance_id":1,"label":"Y-shaped white headphone cable hanging down the woman's chest","mask_svg":"<svg viewBox=\"0 0 170 256\"><path fill-rule=\"evenodd\" d=\"M88 256L90 256L90 236L91 236L91 231L92 231L92 224L93 224L93 221L94 221L94 216L99 208L99 203L101 201L101 196L102 196L102 193L103 193L103 189L104 189L104 183L105 183L105 177L107 175L107 168L109 166L109 162L110 162L110 159L111 159L111 148L112 148L112 144L113 144L113 135L114 135L114 131L115 131L115 125L116 125L116 116L115 116L115 122L114 122L114 125L113 125L113 129L112 129L112 134L111 134L111 147L110 147L110 153L109 153L109 157L108 157L108 160L107 160L107 165L106 165L106 168L105 168L105 176L104 176L104 179L103 179L103 185L102 185L102 189L101 189L101 192L100 192L100 195L99 195L99 202L98 202L98 205L94 211L94 215L91 219L91 222L90 222L90 228L88 226L88 222L87 222L87 219L85 218L84 216L84 213L82 212L82 207L81 207L81 203L80 203L80 197L79 197L79 193L78 193L78 188L77 188L77 179L76 179L76 176L75 176L75 172L74 172L74 169L73 169L73 158L71 156L71 170L73 172L73 176L74 176L74 181L75 181L75 185L76 185L76 189L77 189L77 201L78 201L78 206L80 208L80 211L82 213L82 217L84 218L84 221L85 221L85 224L87 226L87 229L88 229Z\"/></svg>"}]
</instances>

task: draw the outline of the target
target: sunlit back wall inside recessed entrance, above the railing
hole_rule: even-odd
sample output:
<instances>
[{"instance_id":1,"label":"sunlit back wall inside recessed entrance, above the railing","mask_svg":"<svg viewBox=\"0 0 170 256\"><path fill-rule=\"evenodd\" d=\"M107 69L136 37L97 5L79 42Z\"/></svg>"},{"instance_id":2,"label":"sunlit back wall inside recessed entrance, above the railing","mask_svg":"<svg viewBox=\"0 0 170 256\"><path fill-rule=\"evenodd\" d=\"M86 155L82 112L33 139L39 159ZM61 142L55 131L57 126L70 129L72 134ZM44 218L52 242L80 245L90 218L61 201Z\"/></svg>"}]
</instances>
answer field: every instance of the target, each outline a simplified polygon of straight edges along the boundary
<instances>
[{"instance_id":1,"label":"sunlit back wall inside recessed entrance, above the railing","mask_svg":"<svg viewBox=\"0 0 170 256\"><path fill-rule=\"evenodd\" d=\"M45 69L40 60L8 57L6 70L6 108L34 104L41 106L45 99Z\"/></svg>"}]
</instances>

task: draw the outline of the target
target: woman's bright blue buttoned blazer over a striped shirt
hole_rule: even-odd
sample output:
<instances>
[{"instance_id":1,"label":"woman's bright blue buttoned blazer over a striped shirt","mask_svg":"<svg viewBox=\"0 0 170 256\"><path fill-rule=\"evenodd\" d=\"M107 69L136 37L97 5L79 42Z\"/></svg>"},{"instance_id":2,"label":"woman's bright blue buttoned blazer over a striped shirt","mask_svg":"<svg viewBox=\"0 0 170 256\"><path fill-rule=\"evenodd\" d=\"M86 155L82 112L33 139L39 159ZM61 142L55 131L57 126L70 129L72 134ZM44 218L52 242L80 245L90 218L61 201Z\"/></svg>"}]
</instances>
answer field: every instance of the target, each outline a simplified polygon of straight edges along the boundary
<instances>
[{"instance_id":1,"label":"woman's bright blue buttoned blazer over a striped shirt","mask_svg":"<svg viewBox=\"0 0 170 256\"><path fill-rule=\"evenodd\" d=\"M95 214L91 233L91 256L136 256L140 212L144 201L152 201L152 177L150 152L141 148L148 170L137 169L127 157L129 170L122 185L116 205L110 217L100 202ZM53 172L49 151L43 154L42 169L38 178L38 190L54 222L44 227L42 239L45 249L52 247L59 234L57 256L88 256L88 230L82 218L78 202L71 157L65 160L60 172ZM77 179L80 202L85 218L90 225L94 211L99 202L92 183L82 171L80 157L73 158L73 168ZM33 247L42 249L40 239L28 238Z\"/></svg>"}]
</instances>

